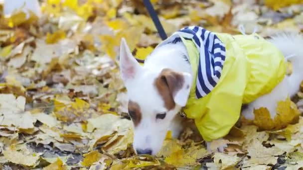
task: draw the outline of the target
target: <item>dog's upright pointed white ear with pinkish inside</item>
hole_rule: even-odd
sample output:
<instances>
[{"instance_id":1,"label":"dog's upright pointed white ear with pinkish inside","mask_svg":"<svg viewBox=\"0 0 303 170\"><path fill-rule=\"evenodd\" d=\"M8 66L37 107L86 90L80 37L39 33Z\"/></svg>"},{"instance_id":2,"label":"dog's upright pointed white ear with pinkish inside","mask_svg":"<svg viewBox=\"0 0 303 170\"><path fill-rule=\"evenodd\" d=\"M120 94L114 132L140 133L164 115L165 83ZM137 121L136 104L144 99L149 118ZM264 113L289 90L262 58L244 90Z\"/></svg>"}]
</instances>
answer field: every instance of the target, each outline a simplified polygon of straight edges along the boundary
<instances>
[{"instance_id":1,"label":"dog's upright pointed white ear with pinkish inside","mask_svg":"<svg viewBox=\"0 0 303 170\"><path fill-rule=\"evenodd\" d=\"M122 38L120 44L120 74L122 80L126 82L130 79L134 79L140 69L140 64L132 55L126 40Z\"/></svg>"}]
</instances>

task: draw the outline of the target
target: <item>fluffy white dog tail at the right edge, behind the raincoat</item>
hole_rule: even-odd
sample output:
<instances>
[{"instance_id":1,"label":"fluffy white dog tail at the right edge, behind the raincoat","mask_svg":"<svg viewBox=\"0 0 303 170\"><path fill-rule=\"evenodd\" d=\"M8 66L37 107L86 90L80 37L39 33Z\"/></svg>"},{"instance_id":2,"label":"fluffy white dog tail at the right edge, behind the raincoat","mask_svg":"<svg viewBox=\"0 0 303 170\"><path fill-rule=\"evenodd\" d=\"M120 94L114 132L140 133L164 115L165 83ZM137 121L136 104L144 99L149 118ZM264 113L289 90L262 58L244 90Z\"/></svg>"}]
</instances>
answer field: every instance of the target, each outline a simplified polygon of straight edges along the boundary
<instances>
[{"instance_id":1,"label":"fluffy white dog tail at the right edge, behind the raincoat","mask_svg":"<svg viewBox=\"0 0 303 170\"><path fill-rule=\"evenodd\" d=\"M303 35L294 32L281 32L271 37L270 41L283 53L285 59L292 63L293 73L289 76L293 90L303 81Z\"/></svg>"}]
</instances>

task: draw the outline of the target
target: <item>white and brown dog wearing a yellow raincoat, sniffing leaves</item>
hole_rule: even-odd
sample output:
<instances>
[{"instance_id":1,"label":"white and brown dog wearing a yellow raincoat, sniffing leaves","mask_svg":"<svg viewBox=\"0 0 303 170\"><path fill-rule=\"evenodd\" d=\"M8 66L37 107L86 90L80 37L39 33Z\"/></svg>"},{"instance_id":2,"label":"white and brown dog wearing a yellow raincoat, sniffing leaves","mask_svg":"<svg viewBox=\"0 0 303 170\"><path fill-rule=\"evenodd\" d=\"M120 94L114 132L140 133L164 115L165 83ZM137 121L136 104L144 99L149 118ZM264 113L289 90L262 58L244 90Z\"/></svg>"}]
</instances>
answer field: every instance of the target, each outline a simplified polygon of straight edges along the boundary
<instances>
[{"instance_id":1,"label":"white and brown dog wearing a yellow raincoat, sniffing leaves","mask_svg":"<svg viewBox=\"0 0 303 170\"><path fill-rule=\"evenodd\" d=\"M206 33L208 39L205 36L203 40ZM200 42L194 42L197 38ZM206 46L205 41L206 45L207 41L211 43ZM212 49L214 46L218 49ZM193 52L189 48L198 49ZM205 58L211 60L213 70L203 68L209 67L201 64ZM258 61L254 62L255 59ZM293 66L290 76L285 74L287 61ZM257 34L233 36L201 27L185 27L160 43L143 66L134 58L123 38L120 74L129 98L129 116L135 127L135 152L156 155L168 130L172 131L172 137L178 137L183 128L178 113L184 109L186 116L195 120L210 151L211 142L229 132L240 112L245 118L254 119L254 109L266 107L274 118L277 102L298 92L303 80L302 66L303 36L300 33L282 32L267 40ZM200 71L197 73L193 68ZM228 72L233 73L229 76ZM208 93L201 90L201 82L205 80L199 80L199 74L204 79L213 78L212 81L206 79L209 81ZM258 81L262 82L259 76L266 80L264 85L258 84ZM241 111L242 104L246 103L248 106ZM192 109L194 104L198 104L198 108ZM200 112L203 112L202 116ZM220 146L217 151L223 152L224 147Z\"/></svg>"}]
</instances>

